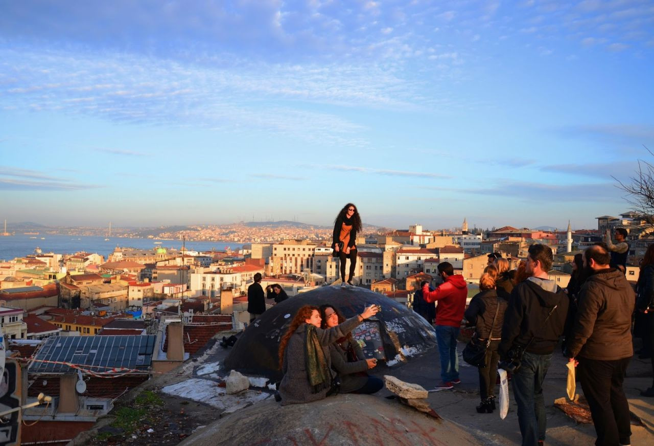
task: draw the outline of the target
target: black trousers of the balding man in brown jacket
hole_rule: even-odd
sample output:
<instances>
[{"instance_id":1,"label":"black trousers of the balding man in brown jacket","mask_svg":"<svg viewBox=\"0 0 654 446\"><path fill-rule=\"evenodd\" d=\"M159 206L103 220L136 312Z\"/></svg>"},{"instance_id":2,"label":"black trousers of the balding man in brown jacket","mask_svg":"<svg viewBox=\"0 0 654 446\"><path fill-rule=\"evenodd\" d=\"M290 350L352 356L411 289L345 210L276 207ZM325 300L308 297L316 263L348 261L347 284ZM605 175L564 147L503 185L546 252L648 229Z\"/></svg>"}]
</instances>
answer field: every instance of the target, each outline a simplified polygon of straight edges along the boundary
<instances>
[{"instance_id":1,"label":"black trousers of the balding man in brown jacket","mask_svg":"<svg viewBox=\"0 0 654 446\"><path fill-rule=\"evenodd\" d=\"M630 359L601 361L577 358L577 375L583 395L591 407L597 446L630 443L629 403L622 388Z\"/></svg>"}]
</instances>

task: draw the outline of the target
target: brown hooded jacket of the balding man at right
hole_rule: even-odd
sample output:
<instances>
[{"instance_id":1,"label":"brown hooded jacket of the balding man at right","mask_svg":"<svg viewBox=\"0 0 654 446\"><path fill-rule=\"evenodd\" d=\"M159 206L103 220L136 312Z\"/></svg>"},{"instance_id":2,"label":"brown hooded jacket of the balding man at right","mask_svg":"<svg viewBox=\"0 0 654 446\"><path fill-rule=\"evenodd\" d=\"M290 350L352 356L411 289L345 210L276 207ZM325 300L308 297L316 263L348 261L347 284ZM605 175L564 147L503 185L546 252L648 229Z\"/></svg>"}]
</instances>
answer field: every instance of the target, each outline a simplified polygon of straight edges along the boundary
<instances>
[{"instance_id":1,"label":"brown hooded jacket of the balding man at right","mask_svg":"<svg viewBox=\"0 0 654 446\"><path fill-rule=\"evenodd\" d=\"M594 272L579 290L577 307L567 343L570 358L612 361L634 354L634 290L621 271L611 268Z\"/></svg>"}]
</instances>

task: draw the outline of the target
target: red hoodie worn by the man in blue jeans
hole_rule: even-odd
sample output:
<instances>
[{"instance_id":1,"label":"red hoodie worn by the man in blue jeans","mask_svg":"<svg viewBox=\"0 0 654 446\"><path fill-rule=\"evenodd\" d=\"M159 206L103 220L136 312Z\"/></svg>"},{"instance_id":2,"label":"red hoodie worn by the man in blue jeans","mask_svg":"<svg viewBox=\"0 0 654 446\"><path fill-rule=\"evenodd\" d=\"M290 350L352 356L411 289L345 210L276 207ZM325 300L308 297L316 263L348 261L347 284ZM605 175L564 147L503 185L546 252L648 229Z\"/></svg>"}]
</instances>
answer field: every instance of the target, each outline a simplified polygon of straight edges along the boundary
<instances>
[{"instance_id":1,"label":"red hoodie worn by the man in blue jeans","mask_svg":"<svg viewBox=\"0 0 654 446\"><path fill-rule=\"evenodd\" d=\"M436 307L436 325L461 326L468 298L468 286L462 275L447 276L445 282L434 291L429 291L429 285L425 284L422 288L422 298L428 303L439 301Z\"/></svg>"}]
</instances>

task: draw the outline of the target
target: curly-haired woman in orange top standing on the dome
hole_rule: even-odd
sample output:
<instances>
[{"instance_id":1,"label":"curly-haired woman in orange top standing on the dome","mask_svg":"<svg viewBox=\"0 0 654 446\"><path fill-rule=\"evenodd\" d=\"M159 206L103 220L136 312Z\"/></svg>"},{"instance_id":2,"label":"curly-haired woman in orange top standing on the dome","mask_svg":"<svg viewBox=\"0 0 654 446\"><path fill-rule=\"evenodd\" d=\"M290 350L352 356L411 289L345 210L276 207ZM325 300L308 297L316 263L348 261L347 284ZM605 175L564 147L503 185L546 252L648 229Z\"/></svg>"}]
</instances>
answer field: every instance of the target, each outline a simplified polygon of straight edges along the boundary
<instances>
[{"instance_id":1,"label":"curly-haired woman in orange top standing on the dome","mask_svg":"<svg viewBox=\"0 0 654 446\"><path fill-rule=\"evenodd\" d=\"M334 221L332 249L334 257L339 258L341 268L341 286L353 286L354 268L356 268L356 233L361 231L361 217L356 206L346 204ZM345 282L345 261L350 259L350 273Z\"/></svg>"}]
</instances>

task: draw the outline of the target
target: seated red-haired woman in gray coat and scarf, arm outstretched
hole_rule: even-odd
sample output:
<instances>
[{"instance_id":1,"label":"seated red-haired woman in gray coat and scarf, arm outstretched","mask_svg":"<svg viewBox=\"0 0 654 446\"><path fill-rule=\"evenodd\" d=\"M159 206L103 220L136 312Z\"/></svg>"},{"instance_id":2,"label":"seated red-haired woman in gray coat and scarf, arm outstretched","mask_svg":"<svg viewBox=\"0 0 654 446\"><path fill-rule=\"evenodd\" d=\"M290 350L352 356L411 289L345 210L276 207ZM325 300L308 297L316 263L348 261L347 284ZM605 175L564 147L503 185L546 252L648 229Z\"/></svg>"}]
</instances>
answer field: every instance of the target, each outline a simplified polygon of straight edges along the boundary
<instances>
[{"instance_id":1,"label":"seated red-haired woman in gray coat and scarf, arm outstretched","mask_svg":"<svg viewBox=\"0 0 654 446\"><path fill-rule=\"evenodd\" d=\"M279 343L279 368L284 373L279 384L282 405L308 403L330 395L334 390L330 344L375 314L377 306L371 305L343 324L323 330L318 307L301 307Z\"/></svg>"}]
</instances>

